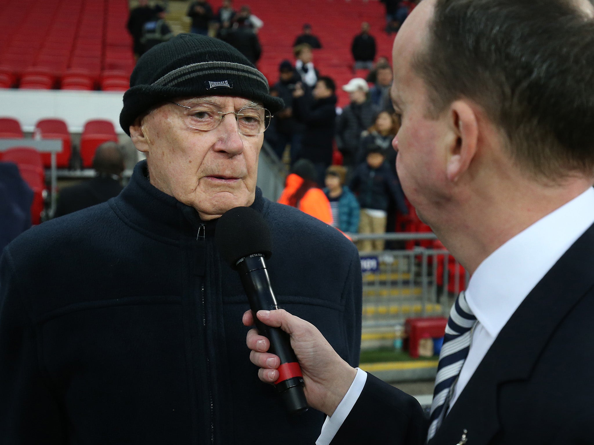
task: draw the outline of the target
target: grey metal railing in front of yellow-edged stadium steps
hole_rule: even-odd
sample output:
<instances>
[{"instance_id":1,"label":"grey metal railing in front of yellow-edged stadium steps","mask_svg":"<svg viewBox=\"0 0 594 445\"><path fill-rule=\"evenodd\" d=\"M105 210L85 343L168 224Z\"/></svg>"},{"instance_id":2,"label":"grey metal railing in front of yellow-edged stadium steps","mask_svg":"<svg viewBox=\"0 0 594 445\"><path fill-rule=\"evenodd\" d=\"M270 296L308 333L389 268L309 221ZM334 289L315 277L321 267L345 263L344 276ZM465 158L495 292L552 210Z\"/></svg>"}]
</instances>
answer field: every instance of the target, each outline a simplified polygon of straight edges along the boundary
<instances>
[{"instance_id":1,"label":"grey metal railing in front of yellow-edged stadium steps","mask_svg":"<svg viewBox=\"0 0 594 445\"><path fill-rule=\"evenodd\" d=\"M426 241L432 233L352 234L353 241ZM412 317L446 317L467 274L445 249L361 252L363 274L362 349L393 347Z\"/></svg>"}]
</instances>

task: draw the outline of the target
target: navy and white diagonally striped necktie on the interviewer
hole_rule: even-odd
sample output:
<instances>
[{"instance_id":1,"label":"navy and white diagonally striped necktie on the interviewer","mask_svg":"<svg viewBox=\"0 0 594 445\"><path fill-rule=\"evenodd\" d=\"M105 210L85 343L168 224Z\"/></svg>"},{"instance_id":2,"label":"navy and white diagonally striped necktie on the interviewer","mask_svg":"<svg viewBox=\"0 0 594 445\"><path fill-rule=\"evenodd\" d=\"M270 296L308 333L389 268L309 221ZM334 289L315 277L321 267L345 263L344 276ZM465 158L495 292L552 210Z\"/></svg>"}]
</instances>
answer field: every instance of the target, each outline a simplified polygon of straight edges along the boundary
<instances>
[{"instance_id":1,"label":"navy and white diagonally striped necktie on the interviewer","mask_svg":"<svg viewBox=\"0 0 594 445\"><path fill-rule=\"evenodd\" d=\"M441 348L440 361L437 365L433 403L429 416L429 431L427 441L435 436L448 409L452 396L454 383L458 379L462 365L470 350L472 327L476 317L466 303L464 292L456 298L456 303L451 307L450 319L445 327L444 344Z\"/></svg>"}]
</instances>

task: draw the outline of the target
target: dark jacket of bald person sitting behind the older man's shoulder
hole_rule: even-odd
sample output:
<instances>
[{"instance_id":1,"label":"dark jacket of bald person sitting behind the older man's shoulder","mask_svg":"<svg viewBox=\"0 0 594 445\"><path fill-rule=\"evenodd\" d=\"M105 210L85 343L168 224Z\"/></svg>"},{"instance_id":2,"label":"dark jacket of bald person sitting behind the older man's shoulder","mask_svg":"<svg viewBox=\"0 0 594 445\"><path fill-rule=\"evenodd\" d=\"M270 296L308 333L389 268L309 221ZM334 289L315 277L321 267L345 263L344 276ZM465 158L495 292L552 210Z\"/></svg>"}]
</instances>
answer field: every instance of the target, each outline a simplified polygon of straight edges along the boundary
<instances>
[{"instance_id":1,"label":"dark jacket of bald person sitting behind the older man's shoulder","mask_svg":"<svg viewBox=\"0 0 594 445\"><path fill-rule=\"evenodd\" d=\"M61 190L56 206L56 218L91 205L101 204L109 198L118 196L122 185L111 177L97 176L75 186Z\"/></svg>"}]
</instances>

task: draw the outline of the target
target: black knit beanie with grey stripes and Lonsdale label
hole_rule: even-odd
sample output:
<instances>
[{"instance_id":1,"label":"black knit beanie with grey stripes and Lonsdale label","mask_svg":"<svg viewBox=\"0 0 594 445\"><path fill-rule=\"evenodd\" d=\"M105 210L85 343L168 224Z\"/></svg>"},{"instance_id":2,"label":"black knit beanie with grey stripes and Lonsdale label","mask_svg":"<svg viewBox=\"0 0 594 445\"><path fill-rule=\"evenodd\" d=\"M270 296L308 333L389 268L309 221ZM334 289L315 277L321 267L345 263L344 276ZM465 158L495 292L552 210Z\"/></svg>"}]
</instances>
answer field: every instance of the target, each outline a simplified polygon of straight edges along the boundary
<instances>
[{"instance_id":1,"label":"black knit beanie with grey stripes and Lonsdale label","mask_svg":"<svg viewBox=\"0 0 594 445\"><path fill-rule=\"evenodd\" d=\"M283 100L270 96L264 74L234 47L212 37L178 34L138 59L119 125L129 135L138 116L184 96L245 97L263 103L271 113L283 109Z\"/></svg>"}]
</instances>

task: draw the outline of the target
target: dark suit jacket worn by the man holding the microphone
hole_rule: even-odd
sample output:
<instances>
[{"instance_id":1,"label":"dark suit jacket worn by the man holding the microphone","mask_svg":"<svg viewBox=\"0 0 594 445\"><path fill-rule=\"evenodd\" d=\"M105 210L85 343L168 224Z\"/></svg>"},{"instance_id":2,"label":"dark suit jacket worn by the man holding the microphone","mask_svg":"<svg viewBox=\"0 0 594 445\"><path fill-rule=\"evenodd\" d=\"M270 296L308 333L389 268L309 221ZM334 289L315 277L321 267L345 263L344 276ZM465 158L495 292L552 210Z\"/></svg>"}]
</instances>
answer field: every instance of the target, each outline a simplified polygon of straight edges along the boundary
<instances>
[{"instance_id":1,"label":"dark suit jacket worn by the man holding the microphone","mask_svg":"<svg viewBox=\"0 0 594 445\"><path fill-rule=\"evenodd\" d=\"M467 445L594 443L593 320L594 226L520 304L429 445L463 430ZM422 444L427 427L414 399L368 376L332 444Z\"/></svg>"}]
</instances>

